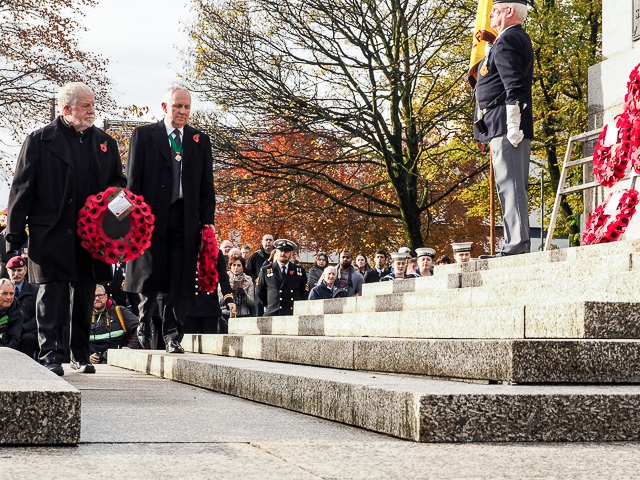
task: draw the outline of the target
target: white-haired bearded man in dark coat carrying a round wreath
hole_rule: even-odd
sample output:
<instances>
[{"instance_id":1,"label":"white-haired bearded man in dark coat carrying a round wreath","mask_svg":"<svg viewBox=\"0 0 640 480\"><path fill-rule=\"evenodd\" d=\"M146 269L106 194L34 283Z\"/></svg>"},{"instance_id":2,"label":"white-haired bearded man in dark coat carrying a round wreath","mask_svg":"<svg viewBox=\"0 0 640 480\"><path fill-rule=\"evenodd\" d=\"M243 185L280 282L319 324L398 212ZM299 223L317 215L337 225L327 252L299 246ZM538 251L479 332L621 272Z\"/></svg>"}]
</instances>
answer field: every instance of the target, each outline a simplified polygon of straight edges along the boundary
<instances>
[{"instance_id":1,"label":"white-haired bearded man in dark coat carrying a round wreath","mask_svg":"<svg viewBox=\"0 0 640 480\"><path fill-rule=\"evenodd\" d=\"M87 197L126 180L116 141L93 126L94 95L79 82L58 93L62 115L31 133L18 156L9 193L10 256L27 240L29 279L40 284L36 321L40 362L64 375L63 330L71 305L71 367L95 372L89 363L89 330L96 282L111 278L109 265L94 260L76 234Z\"/></svg>"}]
</instances>

